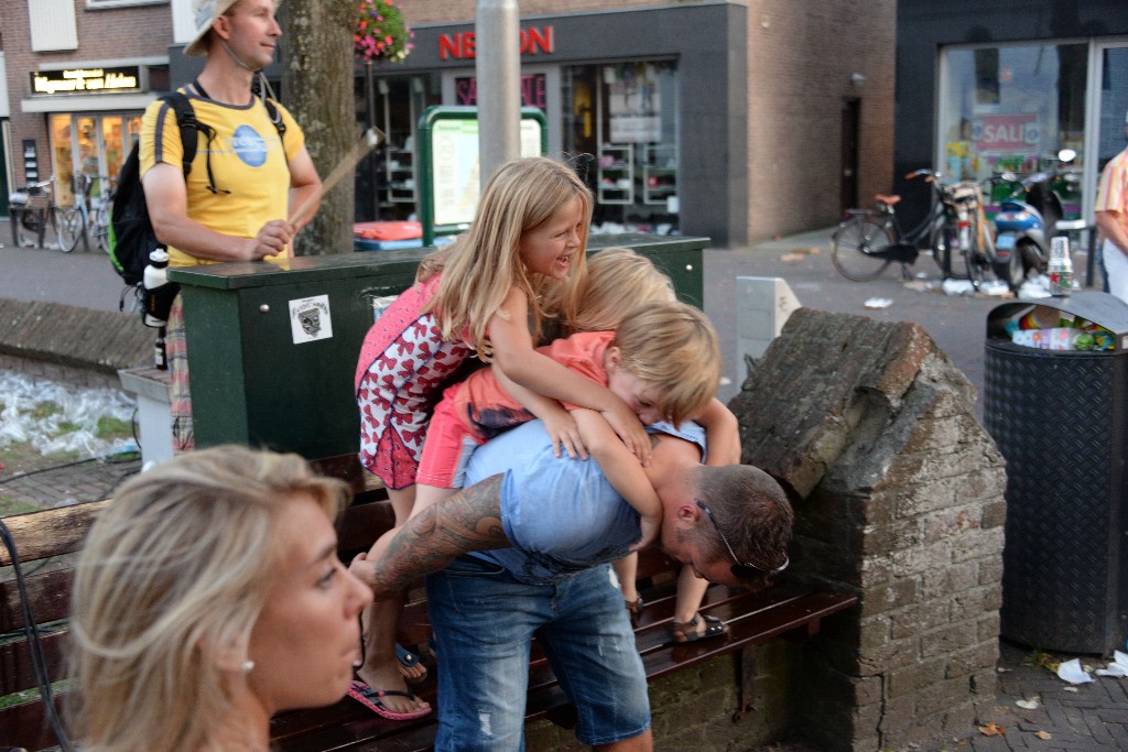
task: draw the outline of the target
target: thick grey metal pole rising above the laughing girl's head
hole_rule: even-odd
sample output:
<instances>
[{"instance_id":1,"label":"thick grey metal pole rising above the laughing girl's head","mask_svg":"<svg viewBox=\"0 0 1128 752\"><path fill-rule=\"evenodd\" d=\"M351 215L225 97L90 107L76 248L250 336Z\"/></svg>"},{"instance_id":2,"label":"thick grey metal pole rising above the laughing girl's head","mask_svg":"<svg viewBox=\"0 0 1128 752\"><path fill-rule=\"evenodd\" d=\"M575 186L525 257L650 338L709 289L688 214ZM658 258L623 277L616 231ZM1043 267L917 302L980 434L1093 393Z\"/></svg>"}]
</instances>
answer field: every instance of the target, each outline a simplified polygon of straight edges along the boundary
<instances>
[{"instance_id":1,"label":"thick grey metal pole rising above the laughing girl's head","mask_svg":"<svg viewBox=\"0 0 1128 752\"><path fill-rule=\"evenodd\" d=\"M477 0L478 179L521 156L521 27L517 0Z\"/></svg>"}]
</instances>

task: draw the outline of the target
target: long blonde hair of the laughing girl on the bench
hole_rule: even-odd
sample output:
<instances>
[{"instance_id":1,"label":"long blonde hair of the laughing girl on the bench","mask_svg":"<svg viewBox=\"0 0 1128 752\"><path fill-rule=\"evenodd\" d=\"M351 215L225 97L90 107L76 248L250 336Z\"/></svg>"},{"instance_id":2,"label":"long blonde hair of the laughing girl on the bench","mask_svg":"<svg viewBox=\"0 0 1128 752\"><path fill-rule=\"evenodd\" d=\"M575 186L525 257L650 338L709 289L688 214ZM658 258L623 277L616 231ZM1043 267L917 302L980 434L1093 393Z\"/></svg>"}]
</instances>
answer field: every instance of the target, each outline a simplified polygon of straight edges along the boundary
<instances>
[{"instance_id":1,"label":"long blonde hair of the laughing girl on the bench","mask_svg":"<svg viewBox=\"0 0 1128 752\"><path fill-rule=\"evenodd\" d=\"M575 198L582 204L583 227L567 278L557 283L529 274L519 253L521 236ZM442 271L428 310L434 312L443 338L465 336L478 357L488 361L486 327L514 286L529 299L534 342L540 337L543 318L559 317L563 326L570 326L584 284L591 203L588 186L563 162L529 157L503 165L482 192L470 229L420 267L421 281Z\"/></svg>"}]
</instances>

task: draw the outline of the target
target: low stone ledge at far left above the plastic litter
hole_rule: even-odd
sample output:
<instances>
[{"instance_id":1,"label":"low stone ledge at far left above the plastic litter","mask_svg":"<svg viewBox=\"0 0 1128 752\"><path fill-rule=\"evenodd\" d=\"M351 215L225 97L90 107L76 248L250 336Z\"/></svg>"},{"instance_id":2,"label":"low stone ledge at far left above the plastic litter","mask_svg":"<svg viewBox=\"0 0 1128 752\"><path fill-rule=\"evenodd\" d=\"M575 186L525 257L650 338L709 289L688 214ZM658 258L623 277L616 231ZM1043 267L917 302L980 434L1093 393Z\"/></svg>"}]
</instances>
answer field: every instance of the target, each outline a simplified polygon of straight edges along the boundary
<instances>
[{"instance_id":1,"label":"low stone ledge at far left above the plastic litter","mask_svg":"<svg viewBox=\"0 0 1128 752\"><path fill-rule=\"evenodd\" d=\"M155 331L136 313L0 298L0 355L94 371L114 381L118 370L152 361Z\"/></svg>"}]
</instances>

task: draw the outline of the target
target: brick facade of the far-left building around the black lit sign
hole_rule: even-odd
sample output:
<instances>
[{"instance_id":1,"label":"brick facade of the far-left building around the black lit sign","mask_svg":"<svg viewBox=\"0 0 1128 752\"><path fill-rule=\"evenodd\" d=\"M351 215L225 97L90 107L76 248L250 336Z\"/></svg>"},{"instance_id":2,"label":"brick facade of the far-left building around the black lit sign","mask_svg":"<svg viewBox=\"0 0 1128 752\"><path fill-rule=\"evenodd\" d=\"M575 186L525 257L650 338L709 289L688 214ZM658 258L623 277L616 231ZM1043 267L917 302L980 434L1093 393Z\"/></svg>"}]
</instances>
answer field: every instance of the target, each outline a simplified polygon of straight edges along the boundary
<instances>
[{"instance_id":1,"label":"brick facade of the far-left building around the black lit sign","mask_svg":"<svg viewBox=\"0 0 1128 752\"><path fill-rule=\"evenodd\" d=\"M8 97L11 106L12 172L17 183L26 180L18 145L34 138L39 157L39 179L51 176L51 149L47 139L47 116L25 113L20 101L30 97L28 72L45 64L81 64L138 57L167 57L173 41L173 16L168 3L129 6L124 8L88 8L85 0L74 0L78 24L78 47L64 52L33 52L27 2L0 2L0 28L3 29L3 52L8 70ZM61 107L62 103L60 104ZM68 112L61 109L60 112Z\"/></svg>"}]
</instances>

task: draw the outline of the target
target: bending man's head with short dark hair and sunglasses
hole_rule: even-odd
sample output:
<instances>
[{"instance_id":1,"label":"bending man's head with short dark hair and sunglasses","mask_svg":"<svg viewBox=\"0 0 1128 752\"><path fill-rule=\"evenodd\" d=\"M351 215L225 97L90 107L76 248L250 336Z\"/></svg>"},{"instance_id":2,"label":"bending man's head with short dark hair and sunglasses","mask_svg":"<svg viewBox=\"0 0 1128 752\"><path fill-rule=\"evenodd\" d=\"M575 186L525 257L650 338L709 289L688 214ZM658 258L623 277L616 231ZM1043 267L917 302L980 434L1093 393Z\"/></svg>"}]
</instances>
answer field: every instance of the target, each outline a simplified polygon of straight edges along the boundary
<instances>
[{"instance_id":1,"label":"bending man's head with short dark hair and sunglasses","mask_svg":"<svg viewBox=\"0 0 1128 752\"><path fill-rule=\"evenodd\" d=\"M691 472L693 497L666 504L662 547L711 582L764 586L788 563L794 514L783 488L749 465Z\"/></svg>"}]
</instances>

